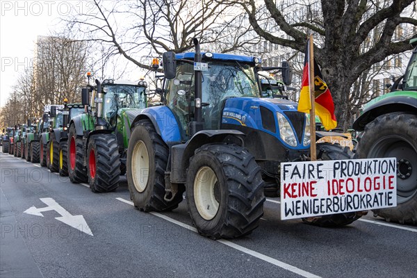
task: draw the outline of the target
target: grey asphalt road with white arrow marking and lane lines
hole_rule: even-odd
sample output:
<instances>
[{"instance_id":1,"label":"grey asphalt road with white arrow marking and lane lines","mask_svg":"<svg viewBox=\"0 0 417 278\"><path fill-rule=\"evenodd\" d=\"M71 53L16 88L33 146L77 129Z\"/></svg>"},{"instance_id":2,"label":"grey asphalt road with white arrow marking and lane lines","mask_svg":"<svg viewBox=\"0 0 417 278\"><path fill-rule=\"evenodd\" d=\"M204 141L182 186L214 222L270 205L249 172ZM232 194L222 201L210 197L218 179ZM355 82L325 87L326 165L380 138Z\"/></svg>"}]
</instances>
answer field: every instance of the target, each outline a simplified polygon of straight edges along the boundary
<instances>
[{"instance_id":1,"label":"grey asphalt road with white arrow marking and lane lines","mask_svg":"<svg viewBox=\"0 0 417 278\"><path fill-rule=\"evenodd\" d=\"M185 201L170 213L134 209L125 180L96 194L8 154L0 167L2 278L417 277L417 227L372 213L311 227L279 220L279 199L268 198L250 236L210 240L191 226Z\"/></svg>"}]
</instances>

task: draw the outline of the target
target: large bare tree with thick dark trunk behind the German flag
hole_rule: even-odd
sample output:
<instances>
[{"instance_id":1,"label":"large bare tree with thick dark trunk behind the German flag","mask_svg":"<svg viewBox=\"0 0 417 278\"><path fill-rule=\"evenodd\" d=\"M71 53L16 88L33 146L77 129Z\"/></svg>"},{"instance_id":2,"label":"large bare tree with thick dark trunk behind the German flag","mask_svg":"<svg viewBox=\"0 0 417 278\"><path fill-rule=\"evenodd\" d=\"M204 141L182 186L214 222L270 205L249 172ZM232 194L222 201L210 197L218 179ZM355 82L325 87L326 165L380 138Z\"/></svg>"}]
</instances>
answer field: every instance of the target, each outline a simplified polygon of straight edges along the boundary
<instances>
[{"instance_id":1,"label":"large bare tree with thick dark trunk behind the German flag","mask_svg":"<svg viewBox=\"0 0 417 278\"><path fill-rule=\"evenodd\" d=\"M351 123L350 91L363 72L393 54L411 49L416 37L416 2L398 1L229 1L245 9L254 31L265 40L304 51L307 34L315 37L314 56L329 83L339 126ZM408 9L409 16L402 16ZM299 13L300 10L306 12ZM395 38L395 28L411 26L414 33ZM371 38L369 48L363 44Z\"/></svg>"}]
</instances>

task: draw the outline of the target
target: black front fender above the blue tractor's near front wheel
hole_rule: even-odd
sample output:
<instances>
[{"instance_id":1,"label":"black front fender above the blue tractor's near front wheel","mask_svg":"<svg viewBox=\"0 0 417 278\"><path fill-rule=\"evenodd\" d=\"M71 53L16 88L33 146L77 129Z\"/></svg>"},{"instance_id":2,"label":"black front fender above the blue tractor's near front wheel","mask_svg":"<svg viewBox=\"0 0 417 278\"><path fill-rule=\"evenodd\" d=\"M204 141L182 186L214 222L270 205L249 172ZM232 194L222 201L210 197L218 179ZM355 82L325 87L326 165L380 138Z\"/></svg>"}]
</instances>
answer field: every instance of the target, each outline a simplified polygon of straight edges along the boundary
<instances>
[{"instance_id":1,"label":"black front fender above the blue tractor's near front wheel","mask_svg":"<svg viewBox=\"0 0 417 278\"><path fill-rule=\"evenodd\" d=\"M174 145L171 150L171 182L186 181L186 170L190 164L190 158L202 145L224 142L243 147L243 137L245 133L234 129L206 130L195 133L186 144Z\"/></svg>"}]
</instances>

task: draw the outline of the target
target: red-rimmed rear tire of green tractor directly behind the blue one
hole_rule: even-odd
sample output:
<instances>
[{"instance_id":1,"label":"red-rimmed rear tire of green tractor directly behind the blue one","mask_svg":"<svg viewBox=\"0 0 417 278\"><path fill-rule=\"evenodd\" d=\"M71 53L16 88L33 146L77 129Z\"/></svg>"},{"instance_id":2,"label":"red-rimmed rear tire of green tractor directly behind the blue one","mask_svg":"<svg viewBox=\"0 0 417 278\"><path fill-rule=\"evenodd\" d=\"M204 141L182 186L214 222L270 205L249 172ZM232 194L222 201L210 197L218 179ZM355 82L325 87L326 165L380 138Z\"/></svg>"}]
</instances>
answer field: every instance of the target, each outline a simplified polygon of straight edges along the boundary
<instances>
[{"instance_id":1,"label":"red-rimmed rear tire of green tractor directly behind the blue one","mask_svg":"<svg viewBox=\"0 0 417 278\"><path fill-rule=\"evenodd\" d=\"M73 183L87 182L87 168L83 165L83 138L76 135L74 124L71 124L68 132L68 177Z\"/></svg>"}]
</instances>

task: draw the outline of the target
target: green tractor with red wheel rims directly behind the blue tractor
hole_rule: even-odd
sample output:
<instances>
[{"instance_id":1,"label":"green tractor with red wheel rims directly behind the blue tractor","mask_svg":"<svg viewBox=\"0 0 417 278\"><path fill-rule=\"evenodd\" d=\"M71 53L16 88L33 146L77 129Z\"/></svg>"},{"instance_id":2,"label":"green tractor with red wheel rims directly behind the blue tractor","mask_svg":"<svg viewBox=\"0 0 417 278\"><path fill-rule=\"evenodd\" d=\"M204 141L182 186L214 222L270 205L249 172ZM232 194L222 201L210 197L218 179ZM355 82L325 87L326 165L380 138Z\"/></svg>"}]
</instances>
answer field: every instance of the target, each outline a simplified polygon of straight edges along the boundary
<instances>
[{"instance_id":1,"label":"green tractor with red wheel rims directly behind the blue tractor","mask_svg":"<svg viewBox=\"0 0 417 278\"><path fill-rule=\"evenodd\" d=\"M73 183L88 181L91 190L98 193L119 186L125 169L129 126L147 106L147 83L113 79L95 82L94 87L82 89L88 113L70 120L67 166Z\"/></svg>"}]
</instances>

